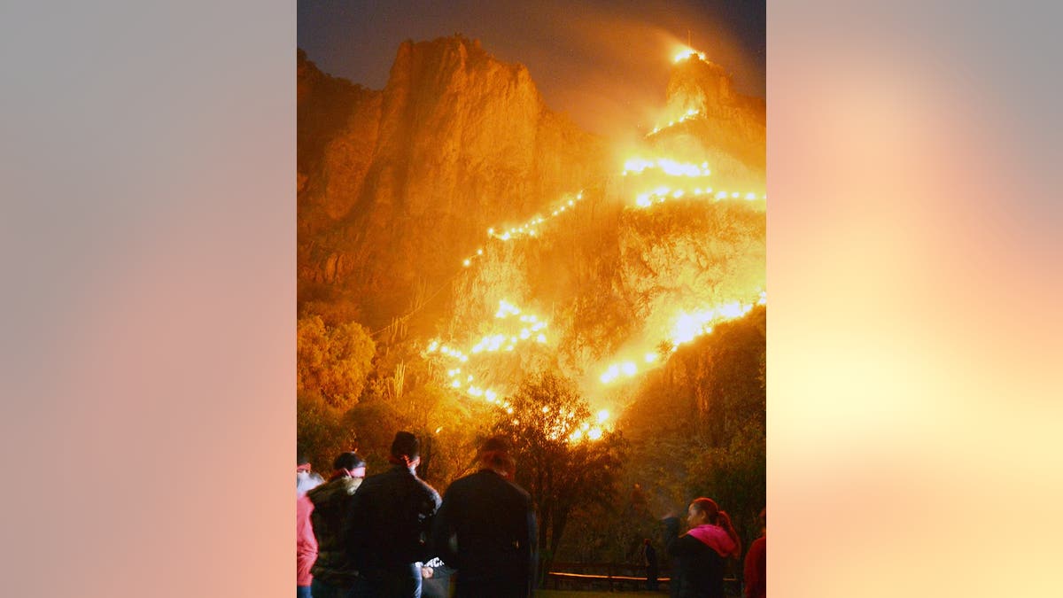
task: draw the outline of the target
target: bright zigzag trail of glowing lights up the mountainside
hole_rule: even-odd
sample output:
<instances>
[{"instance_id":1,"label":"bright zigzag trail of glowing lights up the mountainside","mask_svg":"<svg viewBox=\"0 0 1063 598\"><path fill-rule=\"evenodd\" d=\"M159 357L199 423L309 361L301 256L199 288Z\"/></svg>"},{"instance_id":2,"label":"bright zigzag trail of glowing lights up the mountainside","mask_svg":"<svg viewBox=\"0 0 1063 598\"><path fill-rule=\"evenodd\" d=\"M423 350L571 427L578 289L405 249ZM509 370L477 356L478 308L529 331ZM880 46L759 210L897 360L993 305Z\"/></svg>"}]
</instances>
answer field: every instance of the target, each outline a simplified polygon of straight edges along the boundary
<instances>
[{"instance_id":1,"label":"bright zigzag trail of glowing lights up the mountainside","mask_svg":"<svg viewBox=\"0 0 1063 598\"><path fill-rule=\"evenodd\" d=\"M675 56L675 62L691 60L695 56L701 61L706 60L704 53L686 48ZM667 124L656 127L646 137L664 135L670 128L704 117L705 115L699 111L689 109ZM634 205L627 204L626 209L648 209L675 200L745 200L757 202L767 199L763 193L748 189L736 190L733 186L728 185L726 180L713 184L712 179L710 179L713 171L709 162L707 160L690 160L691 156L696 156L699 151L704 150L701 150L697 144L682 147L686 137L681 135L674 137L676 138L670 142L671 148L675 150L676 145L679 144L680 148L685 150L682 152L684 159L669 155L662 150L643 148L624 161L621 171L625 181L623 193L630 193L634 196ZM492 227L487 230L487 242L505 243L546 234L545 225L549 220L556 219L567 213L576 213L574 209L583 199L584 192L580 190L575 195L562 197L554 206L543 213L536 214L522 225ZM754 205L759 209L762 204L754 203ZM580 214L586 215L586 212L580 212ZM475 253L465 258L461 261L462 266L472 268L486 254L486 247L479 247ZM741 318L756 305L766 303L766 294L763 290L749 289L749 292L752 295L746 297L758 297L755 301L736 300L718 305L689 309L689 304L696 304L696 300L687 299L688 306L686 309L679 305L665 306L664 313L672 309L675 310L674 316L670 319L671 323L659 330L642 331L648 340L641 346L628 345L623 351L608 360L604 369L600 370L598 382L609 385L660 367L668 361L671 352L678 350L681 345L692 343L699 336L711 334L714 326ZM676 299L676 302L681 304L684 300L679 298ZM483 372L485 378L500 376L497 371L488 367L489 364L499 362L483 361L488 359L490 354L511 353L523 359L522 351L532 350L536 346L545 346L550 350L556 349L550 345L547 329L549 322L542 316L529 313L507 299L502 299L499 301L493 317L485 319L476 327L476 330L482 332L487 330L487 334L479 334L478 337L470 338L463 343L451 340L444 344L440 339L434 339L424 350L423 355L446 363L446 381L454 391L467 397L482 399L508 414L512 414L513 408L507 400L510 389L507 387L513 384L513 381L494 380L491 383L485 383L477 379L476 372ZM558 334L564 336L566 333L559 331ZM671 351L669 351L669 347L671 347ZM602 438L603 434L610 429L609 417L608 410L598 411L588 421L576 425L575 430L571 433L566 432L569 442L593 442Z\"/></svg>"}]
</instances>

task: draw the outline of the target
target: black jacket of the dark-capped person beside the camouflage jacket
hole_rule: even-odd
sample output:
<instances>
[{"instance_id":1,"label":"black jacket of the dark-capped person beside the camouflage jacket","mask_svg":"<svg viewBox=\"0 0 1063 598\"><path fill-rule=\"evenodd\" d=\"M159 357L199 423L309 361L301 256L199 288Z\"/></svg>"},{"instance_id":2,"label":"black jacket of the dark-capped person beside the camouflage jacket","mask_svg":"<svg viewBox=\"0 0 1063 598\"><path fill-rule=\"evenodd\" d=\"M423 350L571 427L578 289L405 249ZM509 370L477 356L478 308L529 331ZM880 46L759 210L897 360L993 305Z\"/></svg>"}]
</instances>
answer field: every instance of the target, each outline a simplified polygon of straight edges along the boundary
<instances>
[{"instance_id":1,"label":"black jacket of the dark-capped person beside the camouflage jacket","mask_svg":"<svg viewBox=\"0 0 1063 598\"><path fill-rule=\"evenodd\" d=\"M439 493L402 466L370 476L351 499L347 546L365 576L429 558L427 535Z\"/></svg>"}]
</instances>

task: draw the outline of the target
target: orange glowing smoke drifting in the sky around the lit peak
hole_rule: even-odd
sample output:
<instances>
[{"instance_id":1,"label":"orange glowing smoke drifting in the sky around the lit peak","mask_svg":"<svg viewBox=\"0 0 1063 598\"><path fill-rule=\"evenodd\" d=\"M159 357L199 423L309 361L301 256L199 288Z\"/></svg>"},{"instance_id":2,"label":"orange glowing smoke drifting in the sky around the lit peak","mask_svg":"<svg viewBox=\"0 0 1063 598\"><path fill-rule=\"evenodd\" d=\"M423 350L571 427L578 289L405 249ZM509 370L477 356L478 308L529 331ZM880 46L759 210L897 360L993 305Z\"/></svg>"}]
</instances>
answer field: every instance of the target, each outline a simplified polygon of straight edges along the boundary
<instances>
[{"instance_id":1,"label":"orange glowing smoke drifting in the sky around the lit peak","mask_svg":"<svg viewBox=\"0 0 1063 598\"><path fill-rule=\"evenodd\" d=\"M504 43L499 56L528 67L551 110L613 140L640 137L659 120L688 31L691 46L724 66L740 93L764 93L765 69L756 52L744 49L731 28L703 6L547 0L525 19L532 32L541 33L529 33L514 47ZM758 35L762 48L763 31Z\"/></svg>"}]
</instances>

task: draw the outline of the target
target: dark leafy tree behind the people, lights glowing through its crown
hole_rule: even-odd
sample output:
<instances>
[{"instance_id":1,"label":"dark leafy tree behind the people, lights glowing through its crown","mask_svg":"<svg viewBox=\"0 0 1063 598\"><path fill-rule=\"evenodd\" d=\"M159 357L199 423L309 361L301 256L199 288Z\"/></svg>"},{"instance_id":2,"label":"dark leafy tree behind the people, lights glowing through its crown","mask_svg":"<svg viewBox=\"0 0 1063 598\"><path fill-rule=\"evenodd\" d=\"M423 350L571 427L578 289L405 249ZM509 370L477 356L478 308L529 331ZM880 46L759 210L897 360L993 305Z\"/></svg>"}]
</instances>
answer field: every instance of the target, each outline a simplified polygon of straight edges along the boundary
<instances>
[{"instance_id":1,"label":"dark leafy tree behind the people, lights glowing through its crown","mask_svg":"<svg viewBox=\"0 0 1063 598\"><path fill-rule=\"evenodd\" d=\"M525 378L509 403L512 413L503 413L494 428L513 442L516 481L532 495L540 571L546 571L573 510L615 496L626 443L613 432L573 441L590 409L571 382L551 371Z\"/></svg>"}]
</instances>

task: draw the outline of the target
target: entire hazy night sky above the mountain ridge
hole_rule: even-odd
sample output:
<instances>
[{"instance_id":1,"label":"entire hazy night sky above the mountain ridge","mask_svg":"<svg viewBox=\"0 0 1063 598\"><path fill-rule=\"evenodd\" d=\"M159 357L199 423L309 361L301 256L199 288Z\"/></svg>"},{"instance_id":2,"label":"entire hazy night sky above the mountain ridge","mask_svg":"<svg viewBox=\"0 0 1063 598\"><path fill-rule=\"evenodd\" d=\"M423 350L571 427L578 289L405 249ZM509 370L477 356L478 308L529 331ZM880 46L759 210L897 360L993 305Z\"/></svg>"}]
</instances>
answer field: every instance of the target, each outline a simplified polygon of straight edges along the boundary
<instances>
[{"instance_id":1,"label":"entire hazy night sky above the mountain ridge","mask_svg":"<svg viewBox=\"0 0 1063 598\"><path fill-rule=\"evenodd\" d=\"M653 128L688 30L693 48L726 68L740 93L764 97L763 1L298 4L298 45L330 74L382 89L402 41L461 33L503 62L524 64L551 110L610 136Z\"/></svg>"}]
</instances>

